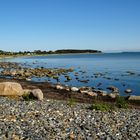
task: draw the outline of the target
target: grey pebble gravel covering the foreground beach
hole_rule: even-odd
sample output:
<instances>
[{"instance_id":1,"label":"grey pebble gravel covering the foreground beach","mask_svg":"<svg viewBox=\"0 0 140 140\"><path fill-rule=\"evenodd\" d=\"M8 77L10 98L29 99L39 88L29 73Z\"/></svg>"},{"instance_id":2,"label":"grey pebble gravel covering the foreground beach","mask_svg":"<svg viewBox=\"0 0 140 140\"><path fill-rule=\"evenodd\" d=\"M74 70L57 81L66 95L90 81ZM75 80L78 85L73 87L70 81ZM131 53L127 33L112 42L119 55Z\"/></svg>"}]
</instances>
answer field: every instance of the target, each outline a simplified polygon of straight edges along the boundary
<instances>
[{"instance_id":1,"label":"grey pebble gravel covering the foreground beach","mask_svg":"<svg viewBox=\"0 0 140 140\"><path fill-rule=\"evenodd\" d=\"M140 110L0 97L0 140L139 140Z\"/></svg>"}]
</instances>

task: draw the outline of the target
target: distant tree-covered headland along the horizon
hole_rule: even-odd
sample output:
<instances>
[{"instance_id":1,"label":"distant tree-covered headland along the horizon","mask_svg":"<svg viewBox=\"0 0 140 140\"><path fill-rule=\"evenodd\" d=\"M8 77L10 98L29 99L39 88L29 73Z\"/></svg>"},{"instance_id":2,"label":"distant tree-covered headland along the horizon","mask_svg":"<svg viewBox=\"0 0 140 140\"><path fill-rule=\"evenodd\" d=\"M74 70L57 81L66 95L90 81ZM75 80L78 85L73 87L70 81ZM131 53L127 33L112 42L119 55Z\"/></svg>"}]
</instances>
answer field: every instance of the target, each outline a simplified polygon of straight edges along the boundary
<instances>
[{"instance_id":1,"label":"distant tree-covered headland along the horizon","mask_svg":"<svg viewBox=\"0 0 140 140\"><path fill-rule=\"evenodd\" d=\"M99 50L77 50L77 49L62 49L55 51L42 51L42 50L34 50L34 51L19 51L19 52L10 52L0 50L0 56L23 56L23 55L49 55L49 54L76 54L76 53L102 53Z\"/></svg>"}]
</instances>

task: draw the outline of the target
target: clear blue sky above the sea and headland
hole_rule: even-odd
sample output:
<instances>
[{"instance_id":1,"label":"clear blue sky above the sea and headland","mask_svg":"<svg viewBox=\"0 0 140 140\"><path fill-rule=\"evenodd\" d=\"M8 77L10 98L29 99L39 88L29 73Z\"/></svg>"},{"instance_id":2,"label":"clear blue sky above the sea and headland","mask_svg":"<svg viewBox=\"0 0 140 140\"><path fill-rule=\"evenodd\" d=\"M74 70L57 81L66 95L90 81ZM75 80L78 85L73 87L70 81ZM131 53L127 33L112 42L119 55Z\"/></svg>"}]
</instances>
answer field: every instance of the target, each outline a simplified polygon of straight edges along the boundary
<instances>
[{"instance_id":1,"label":"clear blue sky above the sea and headland","mask_svg":"<svg viewBox=\"0 0 140 140\"><path fill-rule=\"evenodd\" d=\"M0 50L140 51L140 0L0 0Z\"/></svg>"}]
</instances>

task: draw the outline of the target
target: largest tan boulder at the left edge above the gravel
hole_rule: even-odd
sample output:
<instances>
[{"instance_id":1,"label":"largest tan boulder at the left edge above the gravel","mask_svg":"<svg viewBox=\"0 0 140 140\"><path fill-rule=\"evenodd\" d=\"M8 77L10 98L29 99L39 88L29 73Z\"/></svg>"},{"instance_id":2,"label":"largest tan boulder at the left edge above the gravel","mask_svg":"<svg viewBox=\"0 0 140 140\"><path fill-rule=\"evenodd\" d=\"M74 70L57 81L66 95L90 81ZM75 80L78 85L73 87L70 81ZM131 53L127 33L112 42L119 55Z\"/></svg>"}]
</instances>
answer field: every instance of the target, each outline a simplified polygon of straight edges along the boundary
<instances>
[{"instance_id":1,"label":"largest tan boulder at the left edge above the gravel","mask_svg":"<svg viewBox=\"0 0 140 140\"><path fill-rule=\"evenodd\" d=\"M22 96L23 89L19 83L2 82L0 83L0 95Z\"/></svg>"}]
</instances>

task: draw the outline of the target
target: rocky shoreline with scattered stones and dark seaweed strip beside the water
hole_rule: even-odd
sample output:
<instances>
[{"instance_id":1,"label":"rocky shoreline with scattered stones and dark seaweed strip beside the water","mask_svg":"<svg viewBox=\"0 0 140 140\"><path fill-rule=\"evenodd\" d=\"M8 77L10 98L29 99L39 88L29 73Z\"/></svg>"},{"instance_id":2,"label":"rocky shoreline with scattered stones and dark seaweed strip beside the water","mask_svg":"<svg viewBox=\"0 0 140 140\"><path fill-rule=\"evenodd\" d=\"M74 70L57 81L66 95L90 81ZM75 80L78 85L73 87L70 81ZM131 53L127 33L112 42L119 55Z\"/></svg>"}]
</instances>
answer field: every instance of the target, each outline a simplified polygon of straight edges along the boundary
<instances>
[{"instance_id":1,"label":"rocky shoreline with scattered stones and dark seaweed strip beside the water","mask_svg":"<svg viewBox=\"0 0 140 140\"><path fill-rule=\"evenodd\" d=\"M109 101L114 102L115 98L120 95L120 90L118 87L110 86L106 87L105 90L95 88L95 87L71 87L62 85L59 80L59 76L62 74L65 76L65 79L67 81L71 80L71 77L68 75L69 72L73 72L73 68L60 68L60 69L48 69L44 67L38 67L38 68L25 68L24 66L20 66L20 63L14 63L14 62L2 62L0 63L1 69L1 82L4 81L16 81L21 83L21 85L25 89L32 89L34 87L38 87L45 93L46 98L52 98L52 99L60 99L60 100L68 100L70 98L74 98L77 100L77 102L81 103L93 103L93 101ZM11 70L12 69L12 70ZM84 71L80 70L82 73ZM129 74L133 75L131 71L128 71ZM95 73L95 77L98 75L103 75L102 73ZM6 78L6 77L10 78ZM32 77L49 77L57 80L57 84L52 84L47 82L35 82L32 81ZM75 73L75 76L77 76L77 73ZM22 80L21 80L22 79ZM78 81L78 80L77 80ZM83 83L86 83L86 80L81 81ZM72 89L73 88L73 89ZM108 90L109 91L108 91ZM75 91L74 91L75 90ZM128 92L126 92L126 97L128 98L131 96L132 90L128 89ZM124 95L125 96L125 95Z\"/></svg>"}]
</instances>

